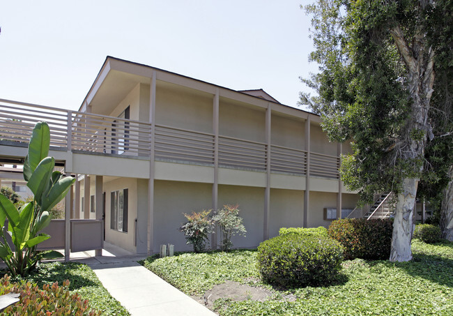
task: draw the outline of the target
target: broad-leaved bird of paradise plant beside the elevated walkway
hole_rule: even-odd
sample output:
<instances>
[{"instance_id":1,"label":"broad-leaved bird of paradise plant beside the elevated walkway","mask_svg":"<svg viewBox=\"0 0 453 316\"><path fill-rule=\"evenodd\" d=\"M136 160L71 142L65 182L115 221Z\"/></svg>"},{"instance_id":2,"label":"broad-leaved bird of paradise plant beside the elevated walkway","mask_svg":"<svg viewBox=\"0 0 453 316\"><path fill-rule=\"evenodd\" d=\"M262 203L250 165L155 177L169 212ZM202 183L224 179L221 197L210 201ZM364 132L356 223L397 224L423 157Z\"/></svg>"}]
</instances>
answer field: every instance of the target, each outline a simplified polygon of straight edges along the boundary
<instances>
[{"instance_id":1,"label":"broad-leaved bird of paradise plant beside the elevated walkway","mask_svg":"<svg viewBox=\"0 0 453 316\"><path fill-rule=\"evenodd\" d=\"M41 259L62 257L56 251L39 252L36 245L50 238L40 233L49 225L52 209L66 196L75 179L54 171L55 160L49 153L50 130L45 122L33 128L29 142L29 153L24 160L24 179L34 195L33 201L17 209L8 197L0 195L0 258L13 276L26 276ZM8 227L5 227L8 218ZM13 241L14 250L6 239Z\"/></svg>"}]
</instances>

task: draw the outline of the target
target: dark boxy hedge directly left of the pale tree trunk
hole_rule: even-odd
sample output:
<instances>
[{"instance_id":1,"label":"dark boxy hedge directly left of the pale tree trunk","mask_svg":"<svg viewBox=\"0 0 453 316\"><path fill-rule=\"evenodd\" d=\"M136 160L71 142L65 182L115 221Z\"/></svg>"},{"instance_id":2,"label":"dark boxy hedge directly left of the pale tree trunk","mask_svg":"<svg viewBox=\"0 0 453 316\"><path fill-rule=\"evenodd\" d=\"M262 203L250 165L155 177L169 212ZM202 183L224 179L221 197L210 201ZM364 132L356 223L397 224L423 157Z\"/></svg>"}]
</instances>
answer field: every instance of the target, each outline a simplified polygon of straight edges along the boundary
<instances>
[{"instance_id":1,"label":"dark boxy hedge directly left of the pale tree trunk","mask_svg":"<svg viewBox=\"0 0 453 316\"><path fill-rule=\"evenodd\" d=\"M392 224L390 219L344 218L330 223L328 235L341 243L345 259L388 259Z\"/></svg>"}]
</instances>

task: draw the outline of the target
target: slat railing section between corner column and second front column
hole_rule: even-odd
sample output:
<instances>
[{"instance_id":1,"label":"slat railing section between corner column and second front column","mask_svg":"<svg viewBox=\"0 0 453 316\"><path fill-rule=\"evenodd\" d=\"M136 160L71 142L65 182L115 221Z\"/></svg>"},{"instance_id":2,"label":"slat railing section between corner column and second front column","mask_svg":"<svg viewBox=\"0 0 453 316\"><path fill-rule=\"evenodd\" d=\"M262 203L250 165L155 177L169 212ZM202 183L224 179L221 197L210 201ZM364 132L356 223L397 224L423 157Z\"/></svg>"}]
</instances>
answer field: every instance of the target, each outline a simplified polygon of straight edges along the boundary
<instances>
[{"instance_id":1,"label":"slat railing section between corner column and second front column","mask_svg":"<svg viewBox=\"0 0 453 316\"><path fill-rule=\"evenodd\" d=\"M156 125L155 158L213 165L214 135Z\"/></svg>"}]
</instances>

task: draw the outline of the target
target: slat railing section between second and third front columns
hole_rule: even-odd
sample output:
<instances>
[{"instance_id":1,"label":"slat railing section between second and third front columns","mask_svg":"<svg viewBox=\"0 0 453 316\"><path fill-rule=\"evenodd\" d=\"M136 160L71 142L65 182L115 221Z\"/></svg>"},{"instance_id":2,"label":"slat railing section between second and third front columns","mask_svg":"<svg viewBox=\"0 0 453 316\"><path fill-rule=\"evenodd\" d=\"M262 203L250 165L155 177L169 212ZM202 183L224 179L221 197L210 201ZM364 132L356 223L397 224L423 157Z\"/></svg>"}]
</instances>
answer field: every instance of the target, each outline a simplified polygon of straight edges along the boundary
<instances>
[{"instance_id":1,"label":"slat railing section between second and third front columns","mask_svg":"<svg viewBox=\"0 0 453 316\"><path fill-rule=\"evenodd\" d=\"M260 142L220 136L219 166L266 170L266 146Z\"/></svg>"}]
</instances>

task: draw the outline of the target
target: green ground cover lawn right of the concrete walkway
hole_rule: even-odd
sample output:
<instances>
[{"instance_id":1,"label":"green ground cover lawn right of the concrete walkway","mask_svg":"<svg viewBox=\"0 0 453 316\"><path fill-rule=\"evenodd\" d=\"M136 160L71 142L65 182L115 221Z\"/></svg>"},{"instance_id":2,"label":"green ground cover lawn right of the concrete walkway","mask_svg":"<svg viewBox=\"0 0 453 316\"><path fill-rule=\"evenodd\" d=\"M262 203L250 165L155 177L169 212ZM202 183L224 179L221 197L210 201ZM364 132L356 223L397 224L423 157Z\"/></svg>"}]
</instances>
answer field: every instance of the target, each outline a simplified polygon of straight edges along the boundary
<instances>
[{"instance_id":1,"label":"green ground cover lawn right of the concrete walkway","mask_svg":"<svg viewBox=\"0 0 453 316\"><path fill-rule=\"evenodd\" d=\"M186 294L202 295L226 280L274 292L265 302L219 299L220 315L453 315L453 243L413 241L413 255L412 262L346 261L332 285L295 289L263 284L253 250L150 257L143 264Z\"/></svg>"}]
</instances>

